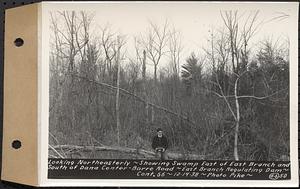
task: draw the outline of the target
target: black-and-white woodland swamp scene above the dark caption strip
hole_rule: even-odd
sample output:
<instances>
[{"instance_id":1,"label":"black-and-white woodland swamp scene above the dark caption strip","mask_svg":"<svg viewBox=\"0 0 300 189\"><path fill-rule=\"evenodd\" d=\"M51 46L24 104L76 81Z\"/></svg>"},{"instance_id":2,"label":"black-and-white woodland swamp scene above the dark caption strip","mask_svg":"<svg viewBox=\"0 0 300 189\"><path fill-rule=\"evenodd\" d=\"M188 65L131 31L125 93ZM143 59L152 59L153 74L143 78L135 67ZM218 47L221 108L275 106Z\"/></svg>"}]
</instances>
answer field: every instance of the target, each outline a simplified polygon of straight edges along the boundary
<instances>
[{"instance_id":1,"label":"black-and-white woodland swamp scene above the dark caption strip","mask_svg":"<svg viewBox=\"0 0 300 189\"><path fill-rule=\"evenodd\" d=\"M49 158L288 161L289 9L236 7L51 11Z\"/></svg>"}]
</instances>

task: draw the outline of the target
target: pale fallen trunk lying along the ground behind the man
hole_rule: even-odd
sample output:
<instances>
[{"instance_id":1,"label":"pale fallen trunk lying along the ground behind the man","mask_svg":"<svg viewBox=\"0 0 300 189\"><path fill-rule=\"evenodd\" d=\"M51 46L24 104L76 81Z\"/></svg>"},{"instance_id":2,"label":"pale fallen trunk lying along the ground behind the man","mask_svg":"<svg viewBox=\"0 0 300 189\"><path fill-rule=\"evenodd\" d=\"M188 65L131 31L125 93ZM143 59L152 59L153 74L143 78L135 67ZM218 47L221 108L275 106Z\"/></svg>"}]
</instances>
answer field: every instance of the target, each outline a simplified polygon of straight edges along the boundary
<instances>
[{"instance_id":1,"label":"pale fallen trunk lying along the ground behind the man","mask_svg":"<svg viewBox=\"0 0 300 189\"><path fill-rule=\"evenodd\" d=\"M78 146L78 145L57 145L51 146L49 145L49 150L52 150L56 155L60 158L67 158L59 153L59 151L63 150L64 154L72 154L74 151L76 152L93 152L93 151L114 151L121 153L129 153L129 154L138 154L144 156L144 158L155 158L155 152L141 149L141 148L128 148L128 147L114 147L114 146ZM168 159L204 159L204 155L198 154L180 154L174 152L167 153Z\"/></svg>"}]
</instances>

